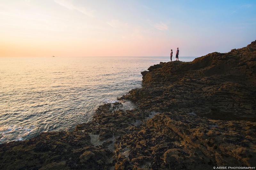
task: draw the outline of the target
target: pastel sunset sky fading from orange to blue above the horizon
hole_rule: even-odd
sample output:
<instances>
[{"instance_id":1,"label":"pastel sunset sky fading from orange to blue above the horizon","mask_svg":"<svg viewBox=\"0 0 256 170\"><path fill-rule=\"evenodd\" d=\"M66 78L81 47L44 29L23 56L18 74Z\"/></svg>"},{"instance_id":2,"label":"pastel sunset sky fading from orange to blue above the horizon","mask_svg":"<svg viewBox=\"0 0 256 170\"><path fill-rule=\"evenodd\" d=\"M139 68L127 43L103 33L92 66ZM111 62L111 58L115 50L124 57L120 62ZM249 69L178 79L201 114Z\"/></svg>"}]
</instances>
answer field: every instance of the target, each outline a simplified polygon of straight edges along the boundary
<instances>
[{"instance_id":1,"label":"pastel sunset sky fading from orange to blue above the horizon","mask_svg":"<svg viewBox=\"0 0 256 170\"><path fill-rule=\"evenodd\" d=\"M0 23L0 57L201 57L256 40L256 1L0 0Z\"/></svg>"}]
</instances>

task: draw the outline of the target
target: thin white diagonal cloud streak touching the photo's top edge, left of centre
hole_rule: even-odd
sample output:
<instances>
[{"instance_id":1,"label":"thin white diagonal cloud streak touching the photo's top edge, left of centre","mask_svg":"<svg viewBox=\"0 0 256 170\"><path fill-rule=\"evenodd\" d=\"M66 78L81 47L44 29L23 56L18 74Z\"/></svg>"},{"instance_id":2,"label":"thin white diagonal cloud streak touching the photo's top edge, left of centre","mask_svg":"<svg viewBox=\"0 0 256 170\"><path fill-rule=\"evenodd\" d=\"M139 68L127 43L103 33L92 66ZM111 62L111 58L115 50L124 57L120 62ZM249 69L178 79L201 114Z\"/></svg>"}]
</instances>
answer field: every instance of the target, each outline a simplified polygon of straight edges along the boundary
<instances>
[{"instance_id":1,"label":"thin white diagonal cloud streak touching the photo's top edge, left of centre","mask_svg":"<svg viewBox=\"0 0 256 170\"><path fill-rule=\"evenodd\" d=\"M79 11L85 15L87 15L88 17L94 17L93 15L93 11L92 10L88 10L84 7L80 7L80 6L76 6L72 3L72 1L69 0L54 0L55 3L64 6L65 8L69 9L69 10L76 10Z\"/></svg>"}]
</instances>

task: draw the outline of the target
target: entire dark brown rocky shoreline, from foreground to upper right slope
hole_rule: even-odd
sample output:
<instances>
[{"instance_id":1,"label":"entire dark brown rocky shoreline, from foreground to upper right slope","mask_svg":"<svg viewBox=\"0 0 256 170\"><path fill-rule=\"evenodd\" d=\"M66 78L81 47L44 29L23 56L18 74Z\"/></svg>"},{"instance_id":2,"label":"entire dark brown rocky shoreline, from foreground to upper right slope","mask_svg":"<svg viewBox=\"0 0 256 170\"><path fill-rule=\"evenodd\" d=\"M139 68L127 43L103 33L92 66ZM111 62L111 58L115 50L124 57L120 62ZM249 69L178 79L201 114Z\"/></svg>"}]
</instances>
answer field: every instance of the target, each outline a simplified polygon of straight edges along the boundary
<instances>
[{"instance_id":1,"label":"entire dark brown rocky shoreline, from foreground to upper right slope","mask_svg":"<svg viewBox=\"0 0 256 170\"><path fill-rule=\"evenodd\" d=\"M256 41L148 68L142 88L74 131L0 145L0 169L256 166ZM124 110L130 100L138 107Z\"/></svg>"}]
</instances>

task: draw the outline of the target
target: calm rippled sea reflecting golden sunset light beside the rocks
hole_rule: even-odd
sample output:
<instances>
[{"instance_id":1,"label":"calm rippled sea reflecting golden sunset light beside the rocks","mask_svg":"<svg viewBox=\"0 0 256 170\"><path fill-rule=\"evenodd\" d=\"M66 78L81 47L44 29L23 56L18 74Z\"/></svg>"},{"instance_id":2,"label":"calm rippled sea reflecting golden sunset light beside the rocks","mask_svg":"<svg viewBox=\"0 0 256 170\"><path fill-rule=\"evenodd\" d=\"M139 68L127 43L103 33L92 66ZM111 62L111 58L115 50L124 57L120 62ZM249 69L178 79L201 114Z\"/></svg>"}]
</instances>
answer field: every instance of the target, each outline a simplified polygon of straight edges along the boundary
<instances>
[{"instance_id":1,"label":"calm rippled sea reflecting golden sunset light beside the rocks","mask_svg":"<svg viewBox=\"0 0 256 170\"><path fill-rule=\"evenodd\" d=\"M141 71L168 61L170 57L0 58L0 143L72 130L90 121L101 104L140 88Z\"/></svg>"}]
</instances>

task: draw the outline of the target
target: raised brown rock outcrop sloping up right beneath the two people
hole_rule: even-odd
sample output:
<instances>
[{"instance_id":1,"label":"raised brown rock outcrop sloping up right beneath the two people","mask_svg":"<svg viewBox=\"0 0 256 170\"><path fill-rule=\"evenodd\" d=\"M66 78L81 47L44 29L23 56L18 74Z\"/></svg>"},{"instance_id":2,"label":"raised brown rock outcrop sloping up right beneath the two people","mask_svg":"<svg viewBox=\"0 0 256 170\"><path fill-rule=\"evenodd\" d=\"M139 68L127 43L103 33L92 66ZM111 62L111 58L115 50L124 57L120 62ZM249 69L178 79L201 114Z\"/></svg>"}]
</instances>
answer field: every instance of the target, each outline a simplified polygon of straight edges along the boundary
<instances>
[{"instance_id":1,"label":"raised brown rock outcrop sloping up right beneath the two people","mask_svg":"<svg viewBox=\"0 0 256 170\"><path fill-rule=\"evenodd\" d=\"M141 109L194 112L223 120L256 121L256 42L192 62L160 63L144 71L143 88L125 98Z\"/></svg>"}]
</instances>

